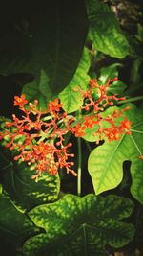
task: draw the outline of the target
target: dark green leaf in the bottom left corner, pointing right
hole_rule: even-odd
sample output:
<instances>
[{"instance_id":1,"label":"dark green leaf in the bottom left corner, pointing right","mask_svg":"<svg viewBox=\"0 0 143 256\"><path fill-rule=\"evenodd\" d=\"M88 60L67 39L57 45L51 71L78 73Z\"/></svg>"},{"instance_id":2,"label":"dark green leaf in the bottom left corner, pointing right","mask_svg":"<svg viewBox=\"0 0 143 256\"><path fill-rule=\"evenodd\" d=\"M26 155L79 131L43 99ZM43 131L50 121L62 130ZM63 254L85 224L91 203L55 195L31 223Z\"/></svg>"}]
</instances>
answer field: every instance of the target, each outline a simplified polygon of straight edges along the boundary
<instances>
[{"instance_id":1,"label":"dark green leaf in the bottom left corner, pointing right","mask_svg":"<svg viewBox=\"0 0 143 256\"><path fill-rule=\"evenodd\" d=\"M15 209L9 198L0 197L0 245L3 255L17 255L16 249L39 230L29 217Z\"/></svg>"}]
</instances>

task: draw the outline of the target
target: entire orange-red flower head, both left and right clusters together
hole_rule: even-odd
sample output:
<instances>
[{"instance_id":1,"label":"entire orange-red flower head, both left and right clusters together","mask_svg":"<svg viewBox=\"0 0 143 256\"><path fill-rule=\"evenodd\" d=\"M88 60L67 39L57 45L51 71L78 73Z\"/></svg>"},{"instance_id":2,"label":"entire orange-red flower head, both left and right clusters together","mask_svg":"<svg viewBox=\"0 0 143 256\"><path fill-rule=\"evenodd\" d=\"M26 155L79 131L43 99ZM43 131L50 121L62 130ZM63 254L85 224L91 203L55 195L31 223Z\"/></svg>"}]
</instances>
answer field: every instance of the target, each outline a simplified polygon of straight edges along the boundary
<instances>
[{"instance_id":1,"label":"entire orange-red flower head, both left and right clusters together","mask_svg":"<svg viewBox=\"0 0 143 256\"><path fill-rule=\"evenodd\" d=\"M12 115L12 121L6 122L6 129L0 132L0 139L7 136L9 142L6 147L17 151L15 160L25 161L31 166L31 170L35 170L36 174L32 175L34 179L38 179L43 172L56 175L58 170L63 168L67 173L76 175L70 160L74 157L74 154L70 153L72 143L66 145L65 140L68 132L72 132L75 137L82 137L87 128L94 128L93 135L98 137L96 143L105 137L112 141L118 140L121 134L130 134L132 122L123 115L129 107L120 111L114 110L106 117L103 115L108 106L125 99L118 98L116 94L107 95L108 87L115 80L117 79L109 80L107 84L100 86L97 80L93 79L86 91L78 87L78 93L83 96L83 105L78 117L68 115L58 98L50 101L46 110L39 110L37 100L28 104L24 94L15 96L14 105L19 106L23 114L20 119ZM95 100L94 89L98 95Z\"/></svg>"}]
</instances>

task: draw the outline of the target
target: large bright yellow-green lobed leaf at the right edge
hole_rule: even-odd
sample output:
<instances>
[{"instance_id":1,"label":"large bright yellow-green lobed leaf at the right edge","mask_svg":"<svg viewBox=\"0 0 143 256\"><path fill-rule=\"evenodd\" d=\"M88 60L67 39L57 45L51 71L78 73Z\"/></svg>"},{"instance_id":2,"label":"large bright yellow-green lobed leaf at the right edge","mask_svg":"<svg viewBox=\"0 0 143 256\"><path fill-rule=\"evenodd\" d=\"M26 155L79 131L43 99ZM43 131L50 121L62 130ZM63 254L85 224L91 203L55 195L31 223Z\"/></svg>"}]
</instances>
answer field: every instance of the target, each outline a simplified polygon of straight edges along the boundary
<instances>
[{"instance_id":1,"label":"large bright yellow-green lobed leaf at the right edge","mask_svg":"<svg viewBox=\"0 0 143 256\"><path fill-rule=\"evenodd\" d=\"M122 106L124 107L124 106ZM111 107L107 114L117 107ZM105 112L106 115L106 112ZM105 142L92 151L88 161L89 173L96 194L115 188L123 178L123 162L130 160L133 197L143 203L143 114L135 105L125 114L133 122L132 134L122 135L120 140Z\"/></svg>"}]
</instances>

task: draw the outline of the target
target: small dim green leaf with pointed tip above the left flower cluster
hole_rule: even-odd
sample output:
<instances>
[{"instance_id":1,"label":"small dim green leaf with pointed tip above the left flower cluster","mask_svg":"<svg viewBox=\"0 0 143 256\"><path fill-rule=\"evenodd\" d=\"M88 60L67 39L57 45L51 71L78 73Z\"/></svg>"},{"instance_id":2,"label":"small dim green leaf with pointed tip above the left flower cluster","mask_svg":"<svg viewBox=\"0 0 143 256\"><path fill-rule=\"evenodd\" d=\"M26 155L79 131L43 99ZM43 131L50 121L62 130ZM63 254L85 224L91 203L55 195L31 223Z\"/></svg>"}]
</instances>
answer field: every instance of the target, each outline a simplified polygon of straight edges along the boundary
<instances>
[{"instance_id":1,"label":"small dim green leaf with pointed tip above the left flower cluster","mask_svg":"<svg viewBox=\"0 0 143 256\"><path fill-rule=\"evenodd\" d=\"M22 93L26 95L29 102L33 103L36 99L40 108L46 109L51 99L51 89L45 71L41 70L40 81L31 81L25 84Z\"/></svg>"}]
</instances>

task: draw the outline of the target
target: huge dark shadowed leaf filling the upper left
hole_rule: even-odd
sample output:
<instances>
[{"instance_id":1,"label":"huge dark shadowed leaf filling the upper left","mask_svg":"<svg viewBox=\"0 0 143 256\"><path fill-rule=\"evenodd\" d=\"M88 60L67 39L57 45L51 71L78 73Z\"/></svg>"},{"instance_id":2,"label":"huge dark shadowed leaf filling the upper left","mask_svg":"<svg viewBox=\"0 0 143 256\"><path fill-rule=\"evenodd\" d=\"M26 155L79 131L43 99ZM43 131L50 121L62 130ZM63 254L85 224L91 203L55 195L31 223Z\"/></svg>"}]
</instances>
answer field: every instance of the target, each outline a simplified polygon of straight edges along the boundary
<instances>
[{"instance_id":1,"label":"huge dark shadowed leaf filling the upper left","mask_svg":"<svg viewBox=\"0 0 143 256\"><path fill-rule=\"evenodd\" d=\"M25 22L1 38L0 73L27 72L38 80L44 70L56 94L71 81L81 58L88 31L85 3L53 0L29 15L23 14Z\"/></svg>"}]
</instances>

